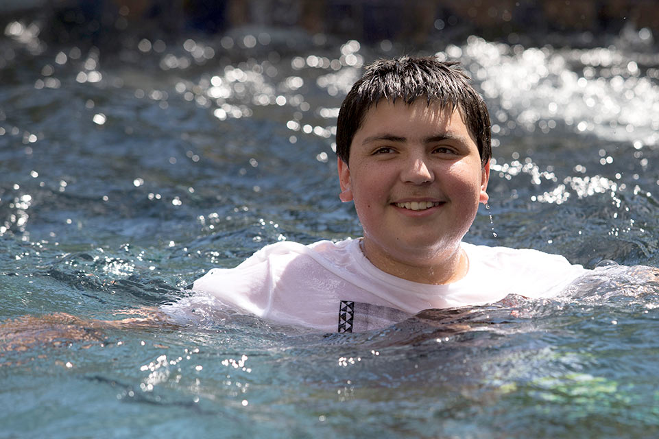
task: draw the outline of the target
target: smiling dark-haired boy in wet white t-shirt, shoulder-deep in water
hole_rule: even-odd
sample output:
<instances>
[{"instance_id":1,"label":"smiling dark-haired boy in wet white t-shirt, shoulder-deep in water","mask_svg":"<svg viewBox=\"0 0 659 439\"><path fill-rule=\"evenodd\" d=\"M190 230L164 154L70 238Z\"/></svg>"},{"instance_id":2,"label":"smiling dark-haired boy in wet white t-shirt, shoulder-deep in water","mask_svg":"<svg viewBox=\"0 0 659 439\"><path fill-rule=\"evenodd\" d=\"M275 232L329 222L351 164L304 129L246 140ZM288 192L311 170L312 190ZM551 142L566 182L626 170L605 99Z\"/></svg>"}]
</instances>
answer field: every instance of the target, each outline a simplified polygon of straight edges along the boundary
<instances>
[{"instance_id":1,"label":"smiling dark-haired boy in wet white t-shirt, shoulder-deep in water","mask_svg":"<svg viewBox=\"0 0 659 439\"><path fill-rule=\"evenodd\" d=\"M309 246L280 242L233 269L213 269L174 320L223 305L318 331L387 327L429 308L553 296L588 272L536 250L462 242L488 201L490 118L454 63L374 62L337 121L343 202L363 237Z\"/></svg>"}]
</instances>

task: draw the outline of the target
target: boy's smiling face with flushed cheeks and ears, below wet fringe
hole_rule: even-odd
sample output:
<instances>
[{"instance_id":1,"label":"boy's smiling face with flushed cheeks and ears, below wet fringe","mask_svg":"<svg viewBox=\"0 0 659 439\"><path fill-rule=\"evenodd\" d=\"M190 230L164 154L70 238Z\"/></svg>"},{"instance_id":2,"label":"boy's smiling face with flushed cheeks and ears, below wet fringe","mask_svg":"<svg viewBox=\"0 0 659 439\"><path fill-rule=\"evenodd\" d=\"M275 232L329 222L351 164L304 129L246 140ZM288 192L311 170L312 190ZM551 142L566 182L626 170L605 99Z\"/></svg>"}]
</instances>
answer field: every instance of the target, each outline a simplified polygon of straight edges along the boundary
<instances>
[{"instance_id":1,"label":"boy's smiling face with flushed cheeks and ears, below wet fringe","mask_svg":"<svg viewBox=\"0 0 659 439\"><path fill-rule=\"evenodd\" d=\"M381 269L455 257L488 200L490 164L481 165L460 110L424 99L372 106L350 144L350 167L339 158L338 169L341 199L355 202L366 256Z\"/></svg>"}]
</instances>

